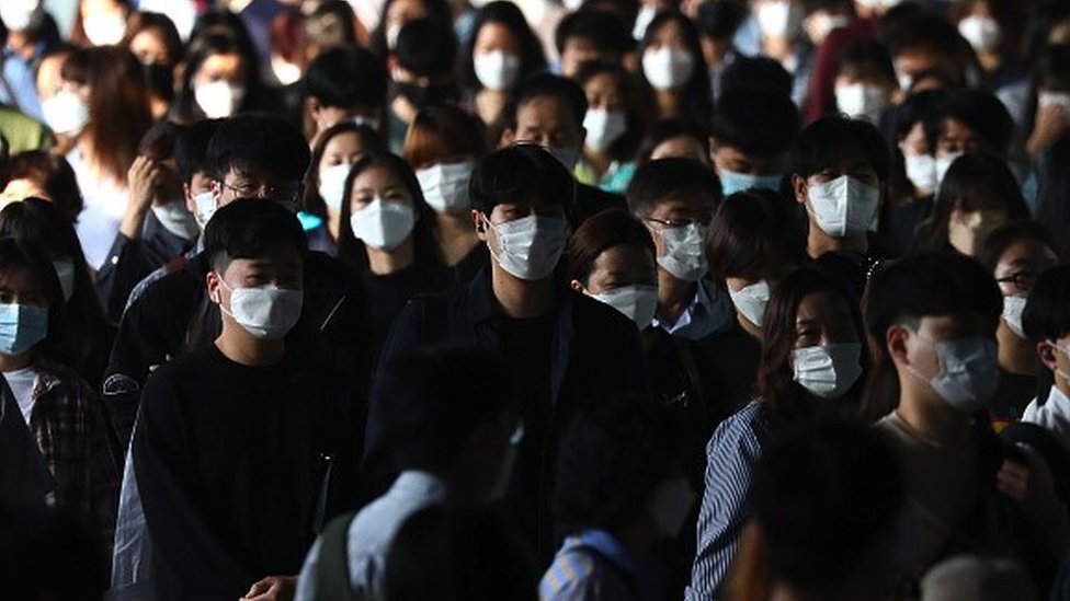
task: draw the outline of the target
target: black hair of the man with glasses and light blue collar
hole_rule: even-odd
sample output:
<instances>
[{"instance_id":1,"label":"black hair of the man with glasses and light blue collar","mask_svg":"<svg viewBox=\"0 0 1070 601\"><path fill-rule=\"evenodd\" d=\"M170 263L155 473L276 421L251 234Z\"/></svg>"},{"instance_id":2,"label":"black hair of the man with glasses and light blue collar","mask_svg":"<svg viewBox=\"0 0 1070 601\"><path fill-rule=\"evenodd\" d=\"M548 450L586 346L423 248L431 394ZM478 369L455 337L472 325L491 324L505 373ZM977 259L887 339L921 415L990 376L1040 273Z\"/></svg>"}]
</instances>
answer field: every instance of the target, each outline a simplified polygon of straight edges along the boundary
<instances>
[{"instance_id":1,"label":"black hair of the man with glasses and light blue collar","mask_svg":"<svg viewBox=\"0 0 1070 601\"><path fill-rule=\"evenodd\" d=\"M721 200L720 181L714 170L691 159L650 161L636 170L628 184L628 209L647 216L660 203L681 196L709 197L716 208Z\"/></svg>"}]
</instances>

